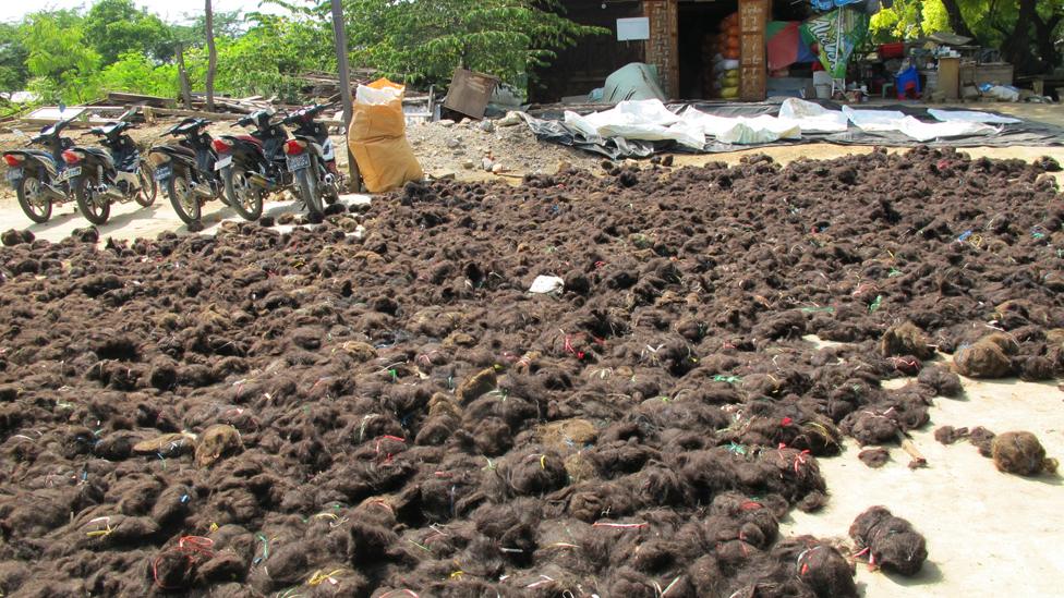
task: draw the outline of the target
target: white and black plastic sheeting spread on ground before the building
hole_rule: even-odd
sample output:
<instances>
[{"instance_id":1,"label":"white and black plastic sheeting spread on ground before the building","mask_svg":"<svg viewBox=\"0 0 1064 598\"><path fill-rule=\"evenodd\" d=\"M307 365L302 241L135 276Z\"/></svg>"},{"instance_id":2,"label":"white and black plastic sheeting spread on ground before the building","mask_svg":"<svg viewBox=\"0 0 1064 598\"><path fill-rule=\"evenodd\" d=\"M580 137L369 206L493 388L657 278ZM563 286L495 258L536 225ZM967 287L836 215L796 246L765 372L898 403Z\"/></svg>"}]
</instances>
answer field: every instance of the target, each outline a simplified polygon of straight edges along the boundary
<instances>
[{"instance_id":1,"label":"white and black plastic sheeting spread on ground before the building","mask_svg":"<svg viewBox=\"0 0 1064 598\"><path fill-rule=\"evenodd\" d=\"M917 144L950 147L1064 145L1062 127L1031 121L1012 122L1013 119L992 112L984 114L995 117L994 122L982 123L975 121L986 117L966 114L971 111L938 110L938 117L933 117L923 107L900 105L866 110L829 100L797 98L788 98L783 103L665 106L654 101L652 107L610 108L604 111L605 117L603 112L578 114L545 109L537 111L543 118L527 114L525 121L539 139L612 159L645 158L656 151L723 152L796 143L891 147ZM654 120L640 123L634 119L640 113L653 114ZM798 135L790 130L795 124L800 131ZM633 136L625 137L621 133ZM702 135L701 139L699 135ZM703 145L696 147L699 141Z\"/></svg>"}]
</instances>

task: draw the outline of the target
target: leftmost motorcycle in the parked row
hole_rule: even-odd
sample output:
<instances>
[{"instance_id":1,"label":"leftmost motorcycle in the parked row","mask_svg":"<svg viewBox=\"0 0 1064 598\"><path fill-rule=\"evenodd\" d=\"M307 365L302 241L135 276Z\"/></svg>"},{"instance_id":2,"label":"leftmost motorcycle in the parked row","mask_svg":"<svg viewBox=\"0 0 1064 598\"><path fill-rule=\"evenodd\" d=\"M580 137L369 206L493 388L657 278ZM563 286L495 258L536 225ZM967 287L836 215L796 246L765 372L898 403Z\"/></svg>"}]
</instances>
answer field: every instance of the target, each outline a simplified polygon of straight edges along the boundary
<instances>
[{"instance_id":1,"label":"leftmost motorcycle in the parked row","mask_svg":"<svg viewBox=\"0 0 1064 598\"><path fill-rule=\"evenodd\" d=\"M45 150L26 148L3 154L8 182L19 196L19 206L38 224L51 218L53 204L62 205L72 199L66 183L66 162L62 159L63 151L74 147L70 137L62 136L72 120L46 126L29 139L32 144L43 145Z\"/></svg>"}]
</instances>

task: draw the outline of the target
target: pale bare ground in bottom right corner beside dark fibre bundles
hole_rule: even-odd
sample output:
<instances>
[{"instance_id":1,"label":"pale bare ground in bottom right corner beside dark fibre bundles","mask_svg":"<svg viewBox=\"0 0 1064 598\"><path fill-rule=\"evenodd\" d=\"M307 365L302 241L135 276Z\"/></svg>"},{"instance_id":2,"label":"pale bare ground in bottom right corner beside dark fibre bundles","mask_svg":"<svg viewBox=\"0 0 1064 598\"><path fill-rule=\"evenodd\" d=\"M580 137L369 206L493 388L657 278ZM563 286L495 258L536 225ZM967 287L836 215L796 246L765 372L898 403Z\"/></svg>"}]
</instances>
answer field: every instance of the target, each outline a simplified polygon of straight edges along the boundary
<instances>
[{"instance_id":1,"label":"pale bare ground in bottom right corner beside dark fibre bundles","mask_svg":"<svg viewBox=\"0 0 1064 598\"><path fill-rule=\"evenodd\" d=\"M781 533L853 545L849 525L881 504L927 537L929 557L911 578L858 563L857 582L867 598L1062 596L1062 478L1002 474L967 441L939 443L934 430L945 425L984 426L998 434L1028 430L1051 456L1064 460L1064 392L1055 382L962 380L965 396L938 398L931 423L911 432L927 467L909 469L909 455L893 448L891 461L872 469L857 459L860 448L848 439L839 456L819 460L831 495L827 507L812 514L794 511Z\"/></svg>"}]
</instances>

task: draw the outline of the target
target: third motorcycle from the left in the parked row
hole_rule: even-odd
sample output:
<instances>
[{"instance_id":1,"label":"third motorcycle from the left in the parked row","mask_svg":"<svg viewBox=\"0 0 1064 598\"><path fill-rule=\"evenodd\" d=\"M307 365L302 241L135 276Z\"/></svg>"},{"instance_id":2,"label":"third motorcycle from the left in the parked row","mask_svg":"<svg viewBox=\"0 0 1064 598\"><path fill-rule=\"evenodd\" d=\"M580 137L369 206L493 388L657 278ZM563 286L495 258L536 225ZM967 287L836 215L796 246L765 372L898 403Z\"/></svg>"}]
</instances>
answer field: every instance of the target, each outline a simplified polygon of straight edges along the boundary
<instances>
[{"instance_id":1,"label":"third motorcycle from the left in the parked row","mask_svg":"<svg viewBox=\"0 0 1064 598\"><path fill-rule=\"evenodd\" d=\"M178 218L185 224L200 220L203 205L211 199L226 202L225 185L215 170L218 156L206 132L210 121L188 118L166 131L181 137L177 144L157 145L148 152L155 166L155 180L166 190Z\"/></svg>"}]
</instances>

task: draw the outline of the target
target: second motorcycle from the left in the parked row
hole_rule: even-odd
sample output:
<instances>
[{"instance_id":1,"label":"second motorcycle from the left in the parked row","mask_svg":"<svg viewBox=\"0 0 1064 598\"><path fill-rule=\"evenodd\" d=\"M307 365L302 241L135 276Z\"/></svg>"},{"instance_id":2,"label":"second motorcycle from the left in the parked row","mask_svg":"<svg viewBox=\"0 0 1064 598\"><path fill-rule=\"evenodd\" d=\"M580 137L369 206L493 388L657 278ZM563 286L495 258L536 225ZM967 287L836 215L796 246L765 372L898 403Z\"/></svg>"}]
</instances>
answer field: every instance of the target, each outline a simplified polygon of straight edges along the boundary
<instances>
[{"instance_id":1,"label":"second motorcycle from the left in the parked row","mask_svg":"<svg viewBox=\"0 0 1064 598\"><path fill-rule=\"evenodd\" d=\"M87 146L63 150L66 180L77 199L77 208L93 224L107 222L113 202L134 200L144 207L155 203L158 187L150 167L126 133L130 129L133 125L128 122L89 129L89 133L101 137L107 150Z\"/></svg>"}]
</instances>

